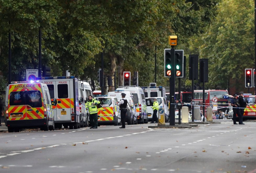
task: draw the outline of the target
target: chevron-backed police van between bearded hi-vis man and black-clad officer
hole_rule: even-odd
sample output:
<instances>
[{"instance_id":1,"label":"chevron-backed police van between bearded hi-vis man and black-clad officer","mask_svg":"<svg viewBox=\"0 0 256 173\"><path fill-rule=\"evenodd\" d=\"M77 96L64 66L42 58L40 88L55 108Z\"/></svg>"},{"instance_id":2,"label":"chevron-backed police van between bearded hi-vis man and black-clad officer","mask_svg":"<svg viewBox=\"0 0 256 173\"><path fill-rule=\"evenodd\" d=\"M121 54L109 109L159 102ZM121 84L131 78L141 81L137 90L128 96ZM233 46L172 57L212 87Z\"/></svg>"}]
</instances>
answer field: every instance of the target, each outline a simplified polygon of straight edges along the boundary
<instances>
[{"instance_id":1,"label":"chevron-backed police van between bearded hi-vis man and black-clad officer","mask_svg":"<svg viewBox=\"0 0 256 173\"><path fill-rule=\"evenodd\" d=\"M96 100L101 102L101 108L98 108L98 124L121 126L121 115L117 98L104 95L96 97Z\"/></svg>"}]
</instances>

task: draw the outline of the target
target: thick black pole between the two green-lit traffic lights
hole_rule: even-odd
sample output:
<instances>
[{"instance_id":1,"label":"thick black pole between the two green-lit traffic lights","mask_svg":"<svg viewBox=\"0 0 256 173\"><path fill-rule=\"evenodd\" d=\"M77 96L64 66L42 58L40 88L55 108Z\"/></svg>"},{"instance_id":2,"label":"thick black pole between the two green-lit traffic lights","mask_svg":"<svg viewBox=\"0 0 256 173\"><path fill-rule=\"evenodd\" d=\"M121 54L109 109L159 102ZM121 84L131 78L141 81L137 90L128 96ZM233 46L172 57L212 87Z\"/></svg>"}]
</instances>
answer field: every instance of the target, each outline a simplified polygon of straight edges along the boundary
<instances>
[{"instance_id":1,"label":"thick black pole between the two green-lit traffic lights","mask_svg":"<svg viewBox=\"0 0 256 173\"><path fill-rule=\"evenodd\" d=\"M174 46L171 46L171 58L175 59ZM171 61L171 67L175 67L175 61ZM175 70L172 70L170 77L170 126L175 126L175 77Z\"/></svg>"}]
</instances>

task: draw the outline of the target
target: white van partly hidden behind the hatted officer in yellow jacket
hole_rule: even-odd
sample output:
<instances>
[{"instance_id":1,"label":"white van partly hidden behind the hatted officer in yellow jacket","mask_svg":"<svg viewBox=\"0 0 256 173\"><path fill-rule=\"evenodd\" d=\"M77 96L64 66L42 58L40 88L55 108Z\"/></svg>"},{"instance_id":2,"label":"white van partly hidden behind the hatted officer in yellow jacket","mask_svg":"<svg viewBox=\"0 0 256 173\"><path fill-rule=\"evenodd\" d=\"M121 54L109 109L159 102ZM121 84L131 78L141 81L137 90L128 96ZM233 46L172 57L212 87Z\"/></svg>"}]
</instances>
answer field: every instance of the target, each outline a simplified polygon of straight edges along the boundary
<instances>
[{"instance_id":1,"label":"white van partly hidden behind the hatted officer in yellow jacket","mask_svg":"<svg viewBox=\"0 0 256 173\"><path fill-rule=\"evenodd\" d=\"M151 121L152 120L152 116L153 116L153 108L151 108L153 106L154 103L154 98L157 99L158 103L159 103L159 108L163 108L164 109L164 114L165 114L165 122L169 122L170 118L169 118L169 109L168 106L166 104L166 100L163 97L147 97L146 98L146 103L147 103L147 111L148 111L148 120ZM158 112L157 112L157 117L158 117Z\"/></svg>"}]
</instances>

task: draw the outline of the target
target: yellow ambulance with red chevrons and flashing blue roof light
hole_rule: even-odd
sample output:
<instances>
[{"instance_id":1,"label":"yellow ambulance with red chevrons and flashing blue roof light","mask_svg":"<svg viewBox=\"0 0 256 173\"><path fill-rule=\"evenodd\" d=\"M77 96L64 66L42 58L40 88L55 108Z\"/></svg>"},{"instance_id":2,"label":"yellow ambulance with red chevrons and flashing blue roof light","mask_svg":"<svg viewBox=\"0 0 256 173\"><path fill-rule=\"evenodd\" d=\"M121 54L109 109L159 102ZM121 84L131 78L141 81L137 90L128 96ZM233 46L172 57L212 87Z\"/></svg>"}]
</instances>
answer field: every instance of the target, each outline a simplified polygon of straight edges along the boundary
<instances>
[{"instance_id":1,"label":"yellow ambulance with red chevrons and flashing blue roof light","mask_svg":"<svg viewBox=\"0 0 256 173\"><path fill-rule=\"evenodd\" d=\"M54 114L49 90L38 81L11 82L6 89L5 123L8 132L38 127L54 130ZM53 105L57 100L53 100Z\"/></svg>"}]
</instances>

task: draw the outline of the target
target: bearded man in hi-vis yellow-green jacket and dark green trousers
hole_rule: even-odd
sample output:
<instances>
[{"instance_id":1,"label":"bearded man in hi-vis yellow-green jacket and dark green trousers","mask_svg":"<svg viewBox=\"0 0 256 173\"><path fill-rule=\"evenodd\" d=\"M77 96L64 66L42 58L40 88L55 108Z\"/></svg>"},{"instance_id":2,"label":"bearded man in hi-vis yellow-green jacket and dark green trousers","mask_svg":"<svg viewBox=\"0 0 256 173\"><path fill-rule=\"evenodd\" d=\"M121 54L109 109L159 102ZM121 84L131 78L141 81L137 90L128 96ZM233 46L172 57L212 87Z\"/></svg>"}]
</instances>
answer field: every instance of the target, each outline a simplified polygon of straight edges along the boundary
<instances>
[{"instance_id":1,"label":"bearded man in hi-vis yellow-green jacket and dark green trousers","mask_svg":"<svg viewBox=\"0 0 256 173\"><path fill-rule=\"evenodd\" d=\"M92 96L88 96L89 100L86 102L85 107L86 110L89 110L89 120L91 123L90 129L97 129L98 128L98 109L97 104L101 102L92 98Z\"/></svg>"}]
</instances>

